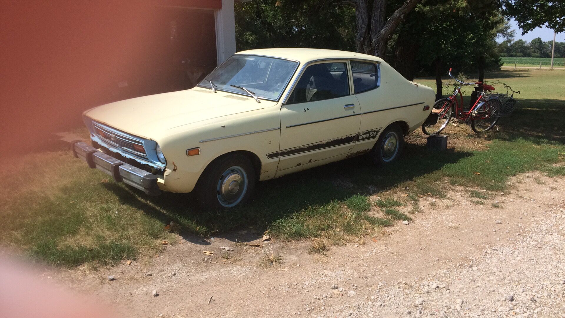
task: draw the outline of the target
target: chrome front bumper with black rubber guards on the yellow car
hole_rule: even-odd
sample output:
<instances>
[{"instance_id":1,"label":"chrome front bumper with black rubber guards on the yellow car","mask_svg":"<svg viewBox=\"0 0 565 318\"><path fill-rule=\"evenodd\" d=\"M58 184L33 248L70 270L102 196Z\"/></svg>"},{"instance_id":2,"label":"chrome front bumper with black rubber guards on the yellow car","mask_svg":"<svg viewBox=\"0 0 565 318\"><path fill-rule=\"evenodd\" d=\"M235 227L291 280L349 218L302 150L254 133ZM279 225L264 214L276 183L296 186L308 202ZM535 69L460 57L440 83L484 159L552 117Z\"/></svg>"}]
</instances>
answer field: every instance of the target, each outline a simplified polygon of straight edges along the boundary
<instances>
[{"instance_id":1,"label":"chrome front bumper with black rubber guards on the yellow car","mask_svg":"<svg viewBox=\"0 0 565 318\"><path fill-rule=\"evenodd\" d=\"M84 160L92 169L98 169L111 175L115 182L129 184L144 191L147 195L161 194L157 184L157 175L110 157L84 141L73 142L71 149L76 158Z\"/></svg>"}]
</instances>

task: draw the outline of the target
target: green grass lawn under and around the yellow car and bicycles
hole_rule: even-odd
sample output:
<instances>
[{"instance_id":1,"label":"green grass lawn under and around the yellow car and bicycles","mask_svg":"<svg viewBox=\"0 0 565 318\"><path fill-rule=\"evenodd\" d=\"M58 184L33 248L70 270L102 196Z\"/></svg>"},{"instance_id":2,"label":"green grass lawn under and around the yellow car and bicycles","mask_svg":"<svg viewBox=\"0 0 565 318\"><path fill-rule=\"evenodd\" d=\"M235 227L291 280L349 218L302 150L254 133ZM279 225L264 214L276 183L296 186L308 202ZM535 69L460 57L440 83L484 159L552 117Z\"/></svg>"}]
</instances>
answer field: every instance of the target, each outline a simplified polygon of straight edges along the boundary
<instances>
[{"instance_id":1,"label":"green grass lawn under and around the yellow car and bicycles","mask_svg":"<svg viewBox=\"0 0 565 318\"><path fill-rule=\"evenodd\" d=\"M476 136L465 124L449 127L451 149L434 153L418 130L391 167L371 167L356 157L262 182L251 203L229 212L195 212L191 195L147 197L62 148L3 159L0 176L10 182L0 188L0 239L64 266L134 259L158 251L163 241L174 244L173 232L200 240L253 227L275 239L341 244L414 218L421 196L445 196L450 184L468 186L470 197L484 204L512 175L564 175L563 75L520 70L487 78L521 91L518 109L499 121L498 131ZM434 87L432 79L417 81Z\"/></svg>"}]
</instances>

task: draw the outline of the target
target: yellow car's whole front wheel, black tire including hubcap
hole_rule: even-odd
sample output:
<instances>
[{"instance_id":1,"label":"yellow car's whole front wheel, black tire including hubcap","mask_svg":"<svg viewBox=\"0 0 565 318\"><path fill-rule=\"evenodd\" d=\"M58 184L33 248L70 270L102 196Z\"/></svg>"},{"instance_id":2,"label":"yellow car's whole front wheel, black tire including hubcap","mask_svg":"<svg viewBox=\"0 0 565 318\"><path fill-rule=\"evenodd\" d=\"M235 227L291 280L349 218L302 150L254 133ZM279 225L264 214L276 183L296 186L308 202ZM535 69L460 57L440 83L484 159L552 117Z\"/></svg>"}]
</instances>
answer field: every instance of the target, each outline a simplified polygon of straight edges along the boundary
<instances>
[{"instance_id":1,"label":"yellow car's whole front wheel, black tire including hubcap","mask_svg":"<svg viewBox=\"0 0 565 318\"><path fill-rule=\"evenodd\" d=\"M196 184L201 209L231 209L244 204L253 193L255 168L243 154L228 154L213 161Z\"/></svg>"}]
</instances>

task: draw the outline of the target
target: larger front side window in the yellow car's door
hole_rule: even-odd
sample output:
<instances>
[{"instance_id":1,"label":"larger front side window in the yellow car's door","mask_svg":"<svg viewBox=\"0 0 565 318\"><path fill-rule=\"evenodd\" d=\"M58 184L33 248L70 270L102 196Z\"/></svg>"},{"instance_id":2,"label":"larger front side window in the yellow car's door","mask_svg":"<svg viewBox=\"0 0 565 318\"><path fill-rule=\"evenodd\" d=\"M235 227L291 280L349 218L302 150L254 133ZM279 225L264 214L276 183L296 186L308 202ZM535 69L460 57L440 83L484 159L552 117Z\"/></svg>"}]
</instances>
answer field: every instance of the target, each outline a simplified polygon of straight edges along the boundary
<instances>
[{"instance_id":1,"label":"larger front side window in the yellow car's door","mask_svg":"<svg viewBox=\"0 0 565 318\"><path fill-rule=\"evenodd\" d=\"M346 63L321 63L308 66L288 104L320 101L349 95L349 79Z\"/></svg>"}]
</instances>

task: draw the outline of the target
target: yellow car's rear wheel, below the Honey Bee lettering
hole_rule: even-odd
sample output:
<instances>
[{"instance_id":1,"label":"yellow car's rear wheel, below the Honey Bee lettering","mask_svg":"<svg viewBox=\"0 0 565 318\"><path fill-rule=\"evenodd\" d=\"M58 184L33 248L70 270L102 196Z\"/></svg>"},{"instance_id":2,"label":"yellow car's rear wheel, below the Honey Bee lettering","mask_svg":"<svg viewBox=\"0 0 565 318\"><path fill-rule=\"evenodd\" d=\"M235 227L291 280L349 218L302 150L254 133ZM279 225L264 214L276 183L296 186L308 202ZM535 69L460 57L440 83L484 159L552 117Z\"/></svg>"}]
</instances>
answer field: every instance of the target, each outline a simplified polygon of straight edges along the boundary
<instances>
[{"instance_id":1,"label":"yellow car's rear wheel, below the Honey Bee lettering","mask_svg":"<svg viewBox=\"0 0 565 318\"><path fill-rule=\"evenodd\" d=\"M381 133L379 139L369 152L372 165L386 166L398 160L404 148L404 135L398 124L391 124Z\"/></svg>"}]
</instances>

